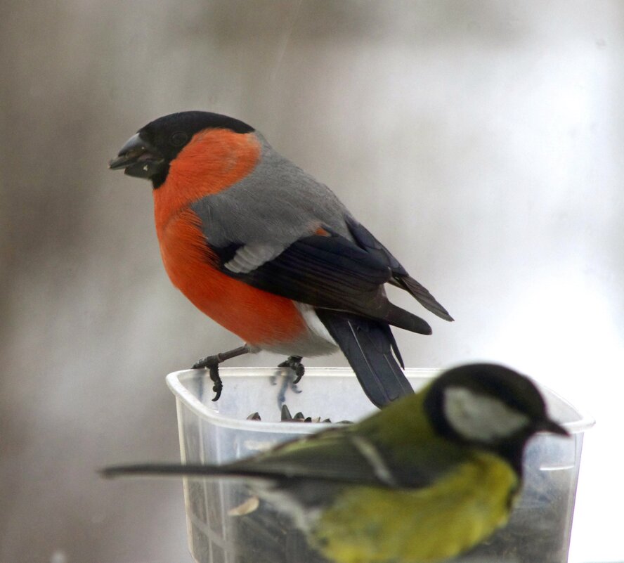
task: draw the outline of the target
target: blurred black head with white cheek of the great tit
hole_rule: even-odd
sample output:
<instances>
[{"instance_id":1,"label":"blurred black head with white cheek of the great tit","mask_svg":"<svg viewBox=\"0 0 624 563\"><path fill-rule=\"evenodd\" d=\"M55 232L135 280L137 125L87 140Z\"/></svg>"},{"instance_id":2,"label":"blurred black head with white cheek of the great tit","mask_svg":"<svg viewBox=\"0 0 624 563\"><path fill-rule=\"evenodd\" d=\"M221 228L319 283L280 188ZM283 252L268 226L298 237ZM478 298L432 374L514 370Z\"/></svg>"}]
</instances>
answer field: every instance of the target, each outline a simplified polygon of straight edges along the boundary
<instances>
[{"instance_id":1,"label":"blurred black head with white cheek of the great tit","mask_svg":"<svg viewBox=\"0 0 624 563\"><path fill-rule=\"evenodd\" d=\"M546 412L535 384L502 365L462 365L434 380L424 409L436 432L504 455L521 472L526 441L536 432L567 436Z\"/></svg>"}]
</instances>

